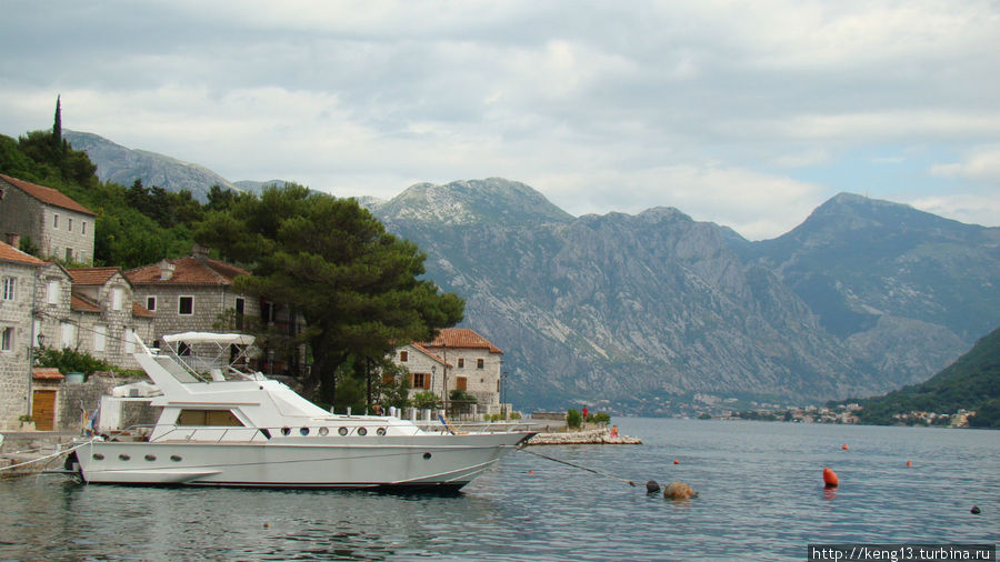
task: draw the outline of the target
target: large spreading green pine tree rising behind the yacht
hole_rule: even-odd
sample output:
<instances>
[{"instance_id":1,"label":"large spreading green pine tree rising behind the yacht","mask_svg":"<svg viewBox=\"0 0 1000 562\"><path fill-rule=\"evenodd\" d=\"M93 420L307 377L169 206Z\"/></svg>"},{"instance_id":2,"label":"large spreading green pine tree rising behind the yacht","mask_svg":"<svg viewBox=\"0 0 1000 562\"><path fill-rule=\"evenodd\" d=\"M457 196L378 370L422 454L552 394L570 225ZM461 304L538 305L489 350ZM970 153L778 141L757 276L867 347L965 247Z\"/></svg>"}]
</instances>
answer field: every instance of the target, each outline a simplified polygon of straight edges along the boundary
<instances>
[{"instance_id":1,"label":"large spreading green pine tree rising behind the yacht","mask_svg":"<svg viewBox=\"0 0 1000 562\"><path fill-rule=\"evenodd\" d=\"M210 211L199 243L247 264L237 290L287 303L306 320L313 358L306 393L338 404L337 372L351 354L379 360L399 342L430 340L462 319L464 302L419 279L426 254L386 232L351 199L289 184Z\"/></svg>"}]
</instances>

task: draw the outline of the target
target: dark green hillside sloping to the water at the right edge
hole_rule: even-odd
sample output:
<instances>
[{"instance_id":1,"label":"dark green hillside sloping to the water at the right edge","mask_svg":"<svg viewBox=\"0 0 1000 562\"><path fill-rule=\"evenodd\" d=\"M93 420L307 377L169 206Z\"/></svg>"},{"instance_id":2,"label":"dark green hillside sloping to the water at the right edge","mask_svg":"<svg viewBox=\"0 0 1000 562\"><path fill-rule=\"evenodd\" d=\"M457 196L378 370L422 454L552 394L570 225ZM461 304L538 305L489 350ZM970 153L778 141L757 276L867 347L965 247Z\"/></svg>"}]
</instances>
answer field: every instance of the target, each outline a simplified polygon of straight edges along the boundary
<instances>
[{"instance_id":1,"label":"dark green hillside sloping to the water at the right edge","mask_svg":"<svg viewBox=\"0 0 1000 562\"><path fill-rule=\"evenodd\" d=\"M864 423L898 423L893 415L914 411L951 414L964 409L977 412L970 425L1000 429L1000 328L927 382L860 403Z\"/></svg>"}]
</instances>

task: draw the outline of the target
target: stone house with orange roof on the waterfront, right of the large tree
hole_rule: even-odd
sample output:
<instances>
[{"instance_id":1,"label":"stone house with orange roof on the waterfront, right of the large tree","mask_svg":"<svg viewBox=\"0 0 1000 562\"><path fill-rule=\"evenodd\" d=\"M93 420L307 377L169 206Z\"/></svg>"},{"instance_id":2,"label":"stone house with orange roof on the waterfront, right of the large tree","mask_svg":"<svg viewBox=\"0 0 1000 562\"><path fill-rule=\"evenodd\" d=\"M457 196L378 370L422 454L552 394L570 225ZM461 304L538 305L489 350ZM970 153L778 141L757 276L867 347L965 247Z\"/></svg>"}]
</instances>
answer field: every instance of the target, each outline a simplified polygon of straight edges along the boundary
<instances>
[{"instance_id":1,"label":"stone house with orange roof on the waterfront, right of the large tree","mask_svg":"<svg viewBox=\"0 0 1000 562\"><path fill-rule=\"evenodd\" d=\"M453 390L476 397L480 413L500 413L500 375L503 354L469 328L446 328L429 342L396 350L393 362L410 372L410 395L430 390L446 398ZM421 385L422 383L422 385Z\"/></svg>"}]
</instances>

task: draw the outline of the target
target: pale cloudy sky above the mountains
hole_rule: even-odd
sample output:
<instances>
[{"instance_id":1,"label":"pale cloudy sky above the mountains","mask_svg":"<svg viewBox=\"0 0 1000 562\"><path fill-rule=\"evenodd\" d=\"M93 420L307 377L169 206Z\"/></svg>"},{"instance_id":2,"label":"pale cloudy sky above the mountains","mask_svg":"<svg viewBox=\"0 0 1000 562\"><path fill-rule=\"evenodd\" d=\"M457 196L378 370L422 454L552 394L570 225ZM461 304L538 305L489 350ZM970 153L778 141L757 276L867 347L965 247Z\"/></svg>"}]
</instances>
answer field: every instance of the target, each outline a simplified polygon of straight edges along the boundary
<instances>
[{"instance_id":1,"label":"pale cloudy sky above the mountains","mask_svg":"<svg viewBox=\"0 0 1000 562\"><path fill-rule=\"evenodd\" d=\"M0 133L389 199L522 181L759 240L841 191L1000 225L996 0L3 0Z\"/></svg>"}]
</instances>

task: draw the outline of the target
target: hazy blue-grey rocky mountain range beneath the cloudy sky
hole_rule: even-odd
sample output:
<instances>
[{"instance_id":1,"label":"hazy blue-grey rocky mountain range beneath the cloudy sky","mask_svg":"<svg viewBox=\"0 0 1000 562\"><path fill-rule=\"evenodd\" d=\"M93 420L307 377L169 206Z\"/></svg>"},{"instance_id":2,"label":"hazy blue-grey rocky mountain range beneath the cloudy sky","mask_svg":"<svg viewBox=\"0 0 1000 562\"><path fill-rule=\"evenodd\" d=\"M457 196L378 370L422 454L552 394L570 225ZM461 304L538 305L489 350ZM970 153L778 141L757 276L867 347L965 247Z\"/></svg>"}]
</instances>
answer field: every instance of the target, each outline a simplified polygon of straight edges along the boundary
<instances>
[{"instance_id":1,"label":"hazy blue-grey rocky mountain range beneath the cloudy sky","mask_svg":"<svg viewBox=\"0 0 1000 562\"><path fill-rule=\"evenodd\" d=\"M87 134L67 138L102 180L240 189L74 140ZM927 380L1000 318L1000 229L849 193L760 242L672 208L572 217L499 178L361 202L466 299L463 324L504 350L503 399L527 410L667 415L878 394Z\"/></svg>"}]
</instances>

